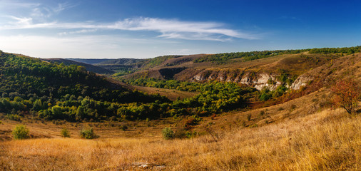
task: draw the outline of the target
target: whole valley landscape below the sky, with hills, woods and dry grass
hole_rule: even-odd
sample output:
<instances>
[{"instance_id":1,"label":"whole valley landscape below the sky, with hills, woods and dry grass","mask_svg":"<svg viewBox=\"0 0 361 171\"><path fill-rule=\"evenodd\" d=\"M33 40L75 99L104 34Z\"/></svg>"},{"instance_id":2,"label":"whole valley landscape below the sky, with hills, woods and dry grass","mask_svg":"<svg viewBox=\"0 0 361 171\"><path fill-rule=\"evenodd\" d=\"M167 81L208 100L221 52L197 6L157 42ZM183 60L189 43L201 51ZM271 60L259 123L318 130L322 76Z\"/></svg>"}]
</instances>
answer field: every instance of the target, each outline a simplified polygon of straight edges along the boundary
<instances>
[{"instance_id":1,"label":"whole valley landscape below the sky, with hills, woods and dry grass","mask_svg":"<svg viewBox=\"0 0 361 171\"><path fill-rule=\"evenodd\" d=\"M347 113L334 89L361 82L360 50L119 60L0 51L0 169L359 170L361 97ZM14 140L16 125L28 139Z\"/></svg>"}]
</instances>

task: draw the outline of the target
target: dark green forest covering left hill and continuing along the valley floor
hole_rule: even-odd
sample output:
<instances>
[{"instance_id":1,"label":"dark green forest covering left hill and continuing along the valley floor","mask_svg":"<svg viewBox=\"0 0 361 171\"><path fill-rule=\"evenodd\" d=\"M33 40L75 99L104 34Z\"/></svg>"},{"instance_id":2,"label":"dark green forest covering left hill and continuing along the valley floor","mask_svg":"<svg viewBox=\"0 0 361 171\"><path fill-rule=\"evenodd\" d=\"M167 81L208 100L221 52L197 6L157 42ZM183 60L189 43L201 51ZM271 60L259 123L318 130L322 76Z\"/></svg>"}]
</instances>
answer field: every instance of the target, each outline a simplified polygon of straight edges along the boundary
<instances>
[{"instance_id":1,"label":"dark green forest covering left hill and continuing along the valley floor","mask_svg":"<svg viewBox=\"0 0 361 171\"><path fill-rule=\"evenodd\" d=\"M244 108L251 88L208 83L192 98L171 102L161 95L129 91L116 81L85 70L37 58L0 54L0 114L11 120L140 120L210 115Z\"/></svg>"}]
</instances>

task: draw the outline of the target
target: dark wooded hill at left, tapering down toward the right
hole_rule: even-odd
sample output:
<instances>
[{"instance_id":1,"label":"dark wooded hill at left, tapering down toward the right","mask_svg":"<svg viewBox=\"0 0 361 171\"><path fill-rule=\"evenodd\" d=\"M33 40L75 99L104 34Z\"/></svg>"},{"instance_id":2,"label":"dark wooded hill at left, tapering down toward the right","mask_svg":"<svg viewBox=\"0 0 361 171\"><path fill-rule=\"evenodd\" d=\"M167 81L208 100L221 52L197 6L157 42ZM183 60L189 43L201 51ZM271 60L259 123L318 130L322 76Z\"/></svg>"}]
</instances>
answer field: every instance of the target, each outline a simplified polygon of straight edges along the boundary
<instances>
[{"instance_id":1,"label":"dark wooded hill at left, tapering down toward the right","mask_svg":"<svg viewBox=\"0 0 361 171\"><path fill-rule=\"evenodd\" d=\"M0 112L14 120L29 117L29 113L46 120L109 120L118 108L130 103L169 101L128 90L123 83L88 72L83 66L1 51L0 56Z\"/></svg>"}]
</instances>

